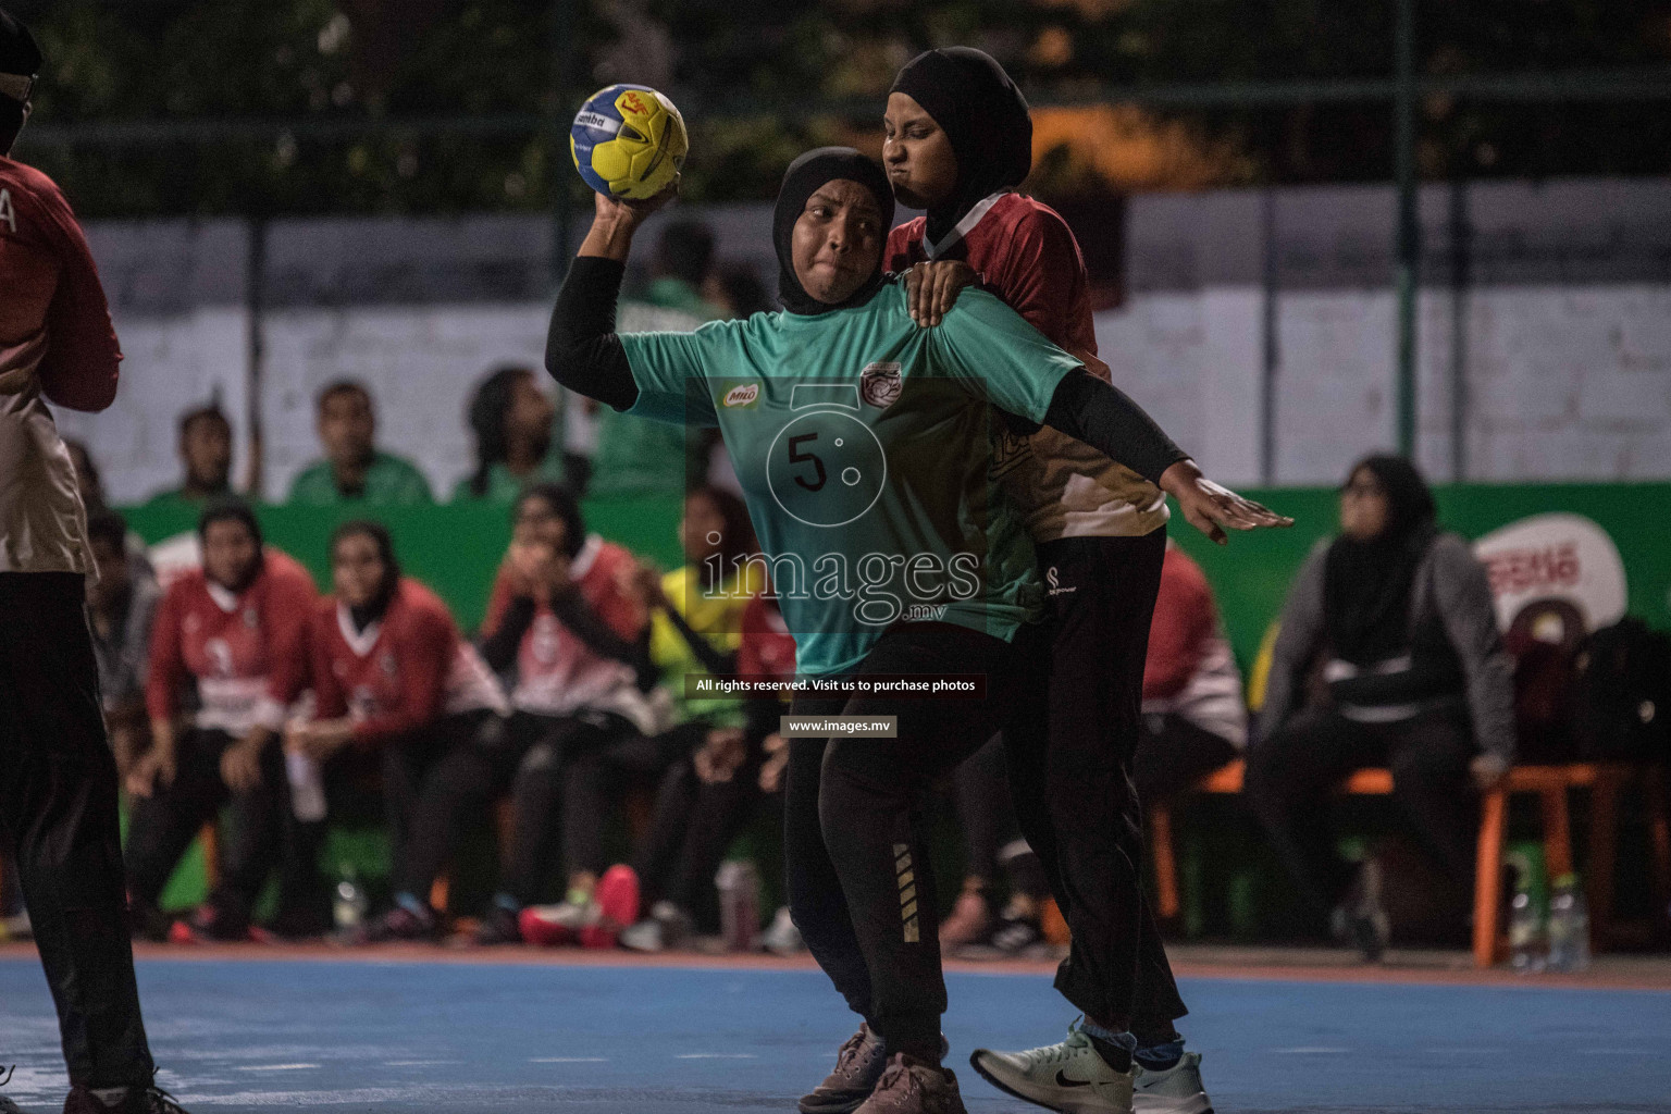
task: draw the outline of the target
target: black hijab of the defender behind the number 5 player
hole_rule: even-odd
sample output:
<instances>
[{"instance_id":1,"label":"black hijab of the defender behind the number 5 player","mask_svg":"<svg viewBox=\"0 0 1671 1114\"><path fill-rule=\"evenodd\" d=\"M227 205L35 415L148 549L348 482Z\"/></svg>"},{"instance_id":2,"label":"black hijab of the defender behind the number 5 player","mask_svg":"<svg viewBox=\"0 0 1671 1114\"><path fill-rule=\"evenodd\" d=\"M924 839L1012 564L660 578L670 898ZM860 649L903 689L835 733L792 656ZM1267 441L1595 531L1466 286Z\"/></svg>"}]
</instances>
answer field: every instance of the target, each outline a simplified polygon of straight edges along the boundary
<instances>
[{"instance_id":1,"label":"black hijab of the defender behind the number 5 player","mask_svg":"<svg viewBox=\"0 0 1671 1114\"><path fill-rule=\"evenodd\" d=\"M887 92L922 105L957 155L957 185L929 209L926 242L941 241L976 202L1016 189L1033 170L1028 99L989 53L974 47L926 50L899 70Z\"/></svg>"}]
</instances>

